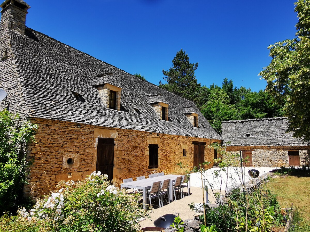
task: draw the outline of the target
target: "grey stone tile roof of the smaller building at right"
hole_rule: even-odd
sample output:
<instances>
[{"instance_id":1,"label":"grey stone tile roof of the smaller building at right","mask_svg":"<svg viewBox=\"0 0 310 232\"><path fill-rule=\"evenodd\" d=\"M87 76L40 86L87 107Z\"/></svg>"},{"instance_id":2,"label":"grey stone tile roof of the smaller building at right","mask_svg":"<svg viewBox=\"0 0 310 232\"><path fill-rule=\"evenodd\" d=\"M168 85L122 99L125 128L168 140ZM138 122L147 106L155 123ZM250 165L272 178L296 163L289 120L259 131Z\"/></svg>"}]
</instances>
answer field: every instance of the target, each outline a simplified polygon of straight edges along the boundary
<instances>
[{"instance_id":1,"label":"grey stone tile roof of the smaller building at right","mask_svg":"<svg viewBox=\"0 0 310 232\"><path fill-rule=\"evenodd\" d=\"M305 146L307 143L285 133L288 120L281 118L258 118L222 122L222 138L229 146ZM246 134L250 134L248 137Z\"/></svg>"}]
</instances>

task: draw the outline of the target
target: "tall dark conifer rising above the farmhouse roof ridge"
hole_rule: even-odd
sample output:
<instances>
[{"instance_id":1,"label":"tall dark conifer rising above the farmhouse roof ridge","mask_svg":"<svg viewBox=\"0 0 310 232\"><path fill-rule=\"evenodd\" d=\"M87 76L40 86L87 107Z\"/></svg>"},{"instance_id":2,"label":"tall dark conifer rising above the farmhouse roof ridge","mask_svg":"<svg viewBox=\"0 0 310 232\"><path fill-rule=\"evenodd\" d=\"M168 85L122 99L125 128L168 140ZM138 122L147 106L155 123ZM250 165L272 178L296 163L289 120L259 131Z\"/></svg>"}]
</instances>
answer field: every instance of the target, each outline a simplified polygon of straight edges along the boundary
<instances>
[{"instance_id":1,"label":"tall dark conifer rising above the farmhouse roof ridge","mask_svg":"<svg viewBox=\"0 0 310 232\"><path fill-rule=\"evenodd\" d=\"M165 76L163 79L167 83L162 84L160 81L159 86L193 101L195 99L196 89L200 87L195 76L198 62L190 63L188 54L181 49L176 53L172 64L173 66L170 67L169 71L162 70Z\"/></svg>"}]
</instances>

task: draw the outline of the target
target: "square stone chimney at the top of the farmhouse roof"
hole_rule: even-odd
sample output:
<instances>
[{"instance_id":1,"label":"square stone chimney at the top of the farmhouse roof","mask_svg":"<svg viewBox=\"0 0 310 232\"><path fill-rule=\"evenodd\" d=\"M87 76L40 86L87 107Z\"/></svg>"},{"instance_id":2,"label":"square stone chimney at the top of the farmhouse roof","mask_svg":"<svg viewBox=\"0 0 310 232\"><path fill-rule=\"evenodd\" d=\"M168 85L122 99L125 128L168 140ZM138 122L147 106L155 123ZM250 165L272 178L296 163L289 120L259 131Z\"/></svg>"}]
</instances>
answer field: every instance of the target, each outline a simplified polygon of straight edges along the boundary
<instances>
[{"instance_id":1,"label":"square stone chimney at the top of the farmhouse roof","mask_svg":"<svg viewBox=\"0 0 310 232\"><path fill-rule=\"evenodd\" d=\"M30 6L23 0L6 0L0 7L2 7L1 29L11 29L23 35L26 28L27 10Z\"/></svg>"}]
</instances>

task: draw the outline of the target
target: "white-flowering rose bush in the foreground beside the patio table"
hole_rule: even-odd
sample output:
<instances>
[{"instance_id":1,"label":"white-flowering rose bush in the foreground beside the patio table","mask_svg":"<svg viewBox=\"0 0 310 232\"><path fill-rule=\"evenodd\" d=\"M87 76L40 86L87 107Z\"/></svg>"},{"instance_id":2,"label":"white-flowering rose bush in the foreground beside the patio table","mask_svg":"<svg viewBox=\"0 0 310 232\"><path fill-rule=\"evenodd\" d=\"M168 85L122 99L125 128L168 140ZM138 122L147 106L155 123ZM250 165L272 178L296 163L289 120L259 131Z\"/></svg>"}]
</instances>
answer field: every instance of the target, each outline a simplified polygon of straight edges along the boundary
<instances>
[{"instance_id":1,"label":"white-flowering rose bush in the foreground beside the patio table","mask_svg":"<svg viewBox=\"0 0 310 232\"><path fill-rule=\"evenodd\" d=\"M139 207L139 192L126 194L107 179L93 172L83 181L62 181L32 209L2 217L0 231L140 231L137 221L147 211Z\"/></svg>"}]
</instances>

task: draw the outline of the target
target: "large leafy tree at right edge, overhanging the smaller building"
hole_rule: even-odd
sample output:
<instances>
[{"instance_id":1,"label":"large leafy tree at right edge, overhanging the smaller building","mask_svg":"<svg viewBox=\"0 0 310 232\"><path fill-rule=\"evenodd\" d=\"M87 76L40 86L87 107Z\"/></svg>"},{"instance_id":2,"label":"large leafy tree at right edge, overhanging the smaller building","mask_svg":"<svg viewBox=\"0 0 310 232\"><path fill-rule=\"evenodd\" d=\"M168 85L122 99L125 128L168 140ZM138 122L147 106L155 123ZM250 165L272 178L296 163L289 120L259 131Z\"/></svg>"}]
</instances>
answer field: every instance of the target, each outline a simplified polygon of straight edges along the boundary
<instances>
[{"instance_id":1,"label":"large leafy tree at right edge, overhanging the smaller building","mask_svg":"<svg viewBox=\"0 0 310 232\"><path fill-rule=\"evenodd\" d=\"M287 132L310 141L310 0L298 0L299 17L296 38L270 45L272 60L259 73L267 80L266 90L279 104L285 102L284 115L289 119Z\"/></svg>"}]
</instances>

